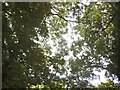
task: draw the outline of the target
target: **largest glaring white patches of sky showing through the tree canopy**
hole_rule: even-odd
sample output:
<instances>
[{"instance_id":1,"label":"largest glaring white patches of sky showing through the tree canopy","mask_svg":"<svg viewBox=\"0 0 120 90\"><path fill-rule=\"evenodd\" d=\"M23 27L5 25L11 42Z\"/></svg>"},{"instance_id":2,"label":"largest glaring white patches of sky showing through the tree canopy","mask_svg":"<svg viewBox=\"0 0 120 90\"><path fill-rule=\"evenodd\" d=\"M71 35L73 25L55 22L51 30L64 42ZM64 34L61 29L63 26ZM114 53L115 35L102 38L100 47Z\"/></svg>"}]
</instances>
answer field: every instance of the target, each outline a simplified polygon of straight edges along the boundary
<instances>
[{"instance_id":1,"label":"largest glaring white patches of sky showing through the tree canopy","mask_svg":"<svg viewBox=\"0 0 120 90\"><path fill-rule=\"evenodd\" d=\"M82 3L84 3L84 4L89 4L89 1L83 0ZM78 38L80 38L81 40L83 39L82 37L80 37L80 34L75 34L75 33L74 33L74 30L73 30L73 26L74 26L74 25L75 25L75 23L69 23L68 26L66 27L66 28L68 28L67 34L62 35L62 37L63 37L63 38L66 40L66 42L67 42L68 48L71 47L73 41L78 40ZM72 37L71 37L71 36L72 36ZM56 47L54 46L54 41L51 39L51 37L52 37L52 36L50 35L50 38L49 38L49 41L47 42L47 44L49 44L49 45L52 47L52 49L51 49L51 51L52 51L52 56L54 56L55 53L57 52L57 46L56 46ZM58 42L58 41L56 40L56 43L57 43L57 42ZM73 52L72 52L72 51L69 50L68 53L69 53L69 56L64 56L64 59L66 60L66 65L65 65L65 67L68 67L68 66L69 66L67 61L70 59L70 57L73 56ZM105 62L104 62L104 63L105 63ZM50 68L52 69L52 67L50 67ZM102 71L100 71L100 72L94 70L94 73L95 73L96 75L98 75L99 78L97 77L97 78L95 78L94 80L91 80L91 83L92 83L93 85L97 86L98 84L100 84L100 82L106 81L107 78L105 77L105 72L106 72L106 70L102 70ZM68 74L70 74L69 70L68 70ZM62 75L61 77L64 77L64 75ZM115 82L117 82L117 80L115 80Z\"/></svg>"}]
</instances>

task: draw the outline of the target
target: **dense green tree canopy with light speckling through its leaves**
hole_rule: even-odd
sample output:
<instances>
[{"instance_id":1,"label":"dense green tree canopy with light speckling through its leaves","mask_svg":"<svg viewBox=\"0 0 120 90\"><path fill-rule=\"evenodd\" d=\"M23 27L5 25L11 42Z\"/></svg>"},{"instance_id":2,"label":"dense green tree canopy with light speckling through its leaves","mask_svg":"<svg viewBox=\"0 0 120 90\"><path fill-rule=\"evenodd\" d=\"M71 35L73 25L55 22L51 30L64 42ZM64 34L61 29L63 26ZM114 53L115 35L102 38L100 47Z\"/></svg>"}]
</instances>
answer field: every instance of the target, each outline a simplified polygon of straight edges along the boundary
<instances>
[{"instance_id":1,"label":"dense green tree canopy with light speckling through its leaves","mask_svg":"<svg viewBox=\"0 0 120 90\"><path fill-rule=\"evenodd\" d=\"M100 2L3 3L3 88L85 88L94 70L103 69L120 81L119 8Z\"/></svg>"}]
</instances>

